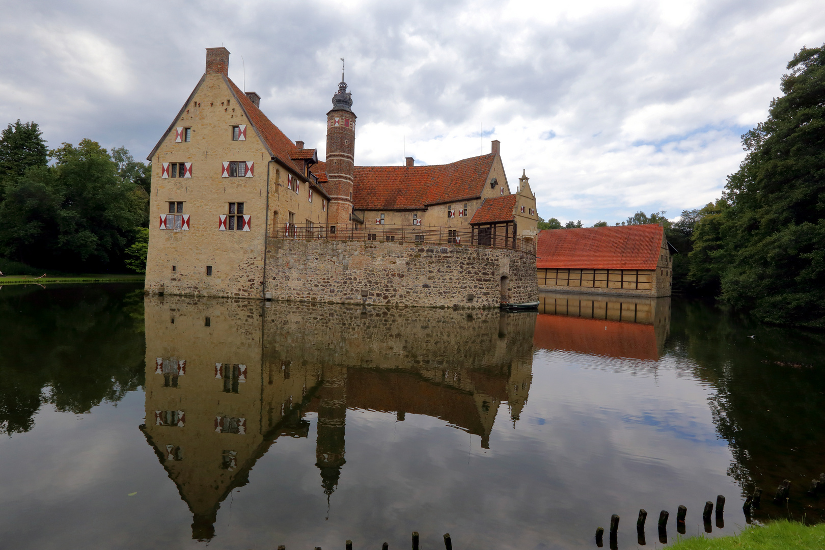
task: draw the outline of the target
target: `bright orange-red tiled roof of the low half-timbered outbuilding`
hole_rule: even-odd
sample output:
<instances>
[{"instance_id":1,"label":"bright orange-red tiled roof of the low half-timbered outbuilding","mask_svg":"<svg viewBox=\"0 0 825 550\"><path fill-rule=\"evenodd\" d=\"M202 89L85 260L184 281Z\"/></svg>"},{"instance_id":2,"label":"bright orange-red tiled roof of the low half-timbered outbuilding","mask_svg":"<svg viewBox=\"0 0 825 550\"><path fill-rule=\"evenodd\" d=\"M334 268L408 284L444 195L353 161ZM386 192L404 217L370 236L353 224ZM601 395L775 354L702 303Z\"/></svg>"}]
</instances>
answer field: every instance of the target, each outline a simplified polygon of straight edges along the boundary
<instances>
[{"instance_id":1,"label":"bright orange-red tiled roof of the low half-timbered outbuilding","mask_svg":"<svg viewBox=\"0 0 825 550\"><path fill-rule=\"evenodd\" d=\"M536 242L537 267L655 270L664 228L656 223L606 228L544 229Z\"/></svg>"}]
</instances>

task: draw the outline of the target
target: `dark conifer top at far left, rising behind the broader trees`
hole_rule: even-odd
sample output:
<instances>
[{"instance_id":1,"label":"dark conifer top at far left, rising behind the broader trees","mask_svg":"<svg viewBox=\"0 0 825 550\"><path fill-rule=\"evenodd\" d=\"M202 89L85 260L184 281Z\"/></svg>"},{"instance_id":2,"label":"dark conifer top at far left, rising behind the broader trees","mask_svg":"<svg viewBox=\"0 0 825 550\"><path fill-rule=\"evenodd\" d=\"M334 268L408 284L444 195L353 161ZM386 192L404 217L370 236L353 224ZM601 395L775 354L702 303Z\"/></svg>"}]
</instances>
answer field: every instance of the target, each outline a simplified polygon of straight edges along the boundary
<instances>
[{"instance_id":1,"label":"dark conifer top at far left, rising behind the broader trees","mask_svg":"<svg viewBox=\"0 0 825 550\"><path fill-rule=\"evenodd\" d=\"M22 176L30 167L45 166L47 162L45 139L36 122L10 124L0 134L0 201L8 181Z\"/></svg>"}]
</instances>

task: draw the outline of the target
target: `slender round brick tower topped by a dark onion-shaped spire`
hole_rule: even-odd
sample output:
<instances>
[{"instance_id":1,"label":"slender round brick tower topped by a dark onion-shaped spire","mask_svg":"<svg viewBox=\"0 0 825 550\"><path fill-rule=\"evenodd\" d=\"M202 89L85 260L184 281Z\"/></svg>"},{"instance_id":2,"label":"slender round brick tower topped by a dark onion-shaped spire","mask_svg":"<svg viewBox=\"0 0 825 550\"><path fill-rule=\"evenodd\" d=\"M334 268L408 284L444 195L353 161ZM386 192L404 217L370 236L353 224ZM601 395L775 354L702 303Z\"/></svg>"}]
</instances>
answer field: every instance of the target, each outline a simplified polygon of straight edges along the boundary
<instances>
[{"instance_id":1,"label":"slender round brick tower topped by a dark onion-shaped spire","mask_svg":"<svg viewBox=\"0 0 825 550\"><path fill-rule=\"evenodd\" d=\"M355 166L356 115L352 112L352 94L347 82L338 84L332 96L332 110L327 113L327 179L329 224L351 223L352 176Z\"/></svg>"}]
</instances>

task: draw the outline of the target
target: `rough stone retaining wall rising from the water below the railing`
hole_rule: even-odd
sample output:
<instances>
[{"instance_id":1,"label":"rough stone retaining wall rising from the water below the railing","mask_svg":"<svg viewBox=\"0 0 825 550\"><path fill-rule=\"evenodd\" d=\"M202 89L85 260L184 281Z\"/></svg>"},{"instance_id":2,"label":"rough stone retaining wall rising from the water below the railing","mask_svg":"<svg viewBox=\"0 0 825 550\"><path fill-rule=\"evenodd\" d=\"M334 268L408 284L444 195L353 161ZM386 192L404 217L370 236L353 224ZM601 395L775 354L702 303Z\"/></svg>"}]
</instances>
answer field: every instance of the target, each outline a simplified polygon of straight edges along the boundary
<instances>
[{"instance_id":1,"label":"rough stone retaining wall rising from the water below the railing","mask_svg":"<svg viewBox=\"0 0 825 550\"><path fill-rule=\"evenodd\" d=\"M277 300L497 308L502 277L508 302L538 300L535 256L521 251L271 239L265 290Z\"/></svg>"}]
</instances>

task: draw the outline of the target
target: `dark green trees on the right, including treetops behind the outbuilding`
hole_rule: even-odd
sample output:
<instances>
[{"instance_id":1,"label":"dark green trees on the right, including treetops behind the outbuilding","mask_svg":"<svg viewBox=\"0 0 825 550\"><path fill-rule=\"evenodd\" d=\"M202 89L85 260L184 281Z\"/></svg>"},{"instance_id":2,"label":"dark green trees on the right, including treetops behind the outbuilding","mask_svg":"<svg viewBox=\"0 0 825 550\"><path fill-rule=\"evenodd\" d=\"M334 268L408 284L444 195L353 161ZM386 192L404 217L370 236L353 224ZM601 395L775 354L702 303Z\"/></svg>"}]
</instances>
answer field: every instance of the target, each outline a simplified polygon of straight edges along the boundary
<instances>
[{"instance_id":1,"label":"dark green trees on the right, including treetops behind the outbuilding","mask_svg":"<svg viewBox=\"0 0 825 550\"><path fill-rule=\"evenodd\" d=\"M787 69L767 120L742 135L747 154L718 200L675 222L637 212L621 224L664 225L679 251L674 291L715 296L762 322L822 328L825 45L799 50ZM540 229L554 228L562 228L558 219L540 221Z\"/></svg>"}]
</instances>

